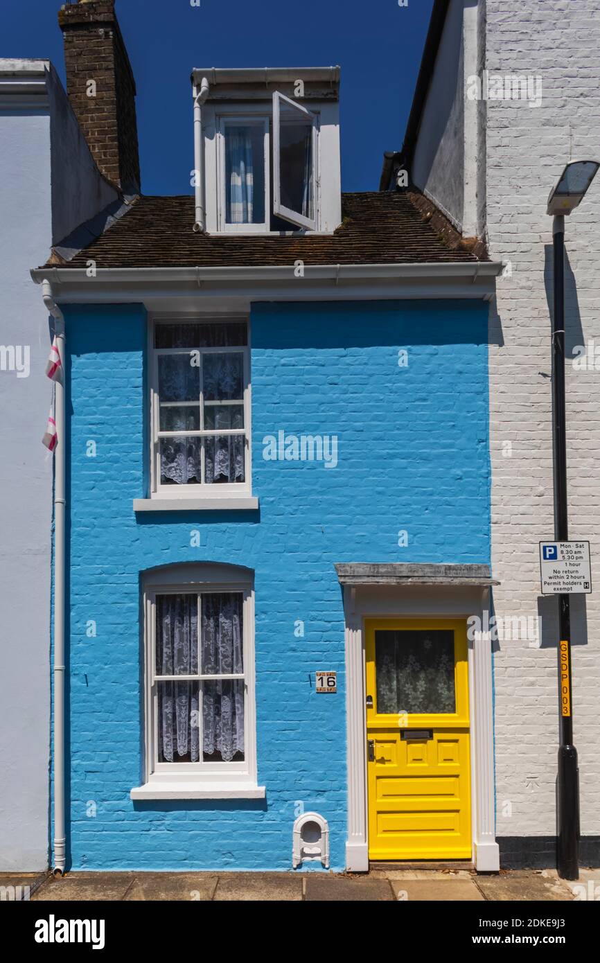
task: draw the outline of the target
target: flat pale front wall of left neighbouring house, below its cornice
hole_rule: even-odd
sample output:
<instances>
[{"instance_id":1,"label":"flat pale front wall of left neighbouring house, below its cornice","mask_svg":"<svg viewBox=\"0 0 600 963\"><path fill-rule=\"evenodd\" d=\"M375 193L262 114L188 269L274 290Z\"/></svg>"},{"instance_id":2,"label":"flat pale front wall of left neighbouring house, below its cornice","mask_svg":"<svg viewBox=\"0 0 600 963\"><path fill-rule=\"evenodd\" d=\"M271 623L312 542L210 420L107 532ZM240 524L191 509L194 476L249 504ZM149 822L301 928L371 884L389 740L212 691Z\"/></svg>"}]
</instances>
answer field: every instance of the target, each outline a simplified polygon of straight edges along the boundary
<instances>
[{"instance_id":1,"label":"flat pale front wall of left neighbouring house, below its cornice","mask_svg":"<svg viewBox=\"0 0 600 963\"><path fill-rule=\"evenodd\" d=\"M0 871L47 866L52 461L48 315L29 276L51 234L47 111L0 109L0 345L27 346L29 377L0 370Z\"/></svg>"}]
</instances>

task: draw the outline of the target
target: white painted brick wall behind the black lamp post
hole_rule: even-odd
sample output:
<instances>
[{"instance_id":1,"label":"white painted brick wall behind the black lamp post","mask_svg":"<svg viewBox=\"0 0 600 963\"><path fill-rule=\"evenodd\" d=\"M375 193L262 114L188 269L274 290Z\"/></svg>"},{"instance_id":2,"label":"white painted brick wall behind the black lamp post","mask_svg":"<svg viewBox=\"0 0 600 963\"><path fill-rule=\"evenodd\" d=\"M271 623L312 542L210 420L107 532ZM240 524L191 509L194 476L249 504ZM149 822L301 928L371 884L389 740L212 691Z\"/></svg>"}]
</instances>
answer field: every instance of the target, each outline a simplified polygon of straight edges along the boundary
<instances>
[{"instance_id":1,"label":"white painted brick wall behind the black lamp post","mask_svg":"<svg viewBox=\"0 0 600 963\"><path fill-rule=\"evenodd\" d=\"M565 162L600 159L600 0L487 0L486 8L487 68L542 78L538 108L490 101L486 134L490 253L513 266L512 277L499 281L490 325L500 342L490 347L492 560L502 582L494 598L499 616L535 615L537 542L554 532L552 222L545 208ZM566 219L566 250L568 356L592 339L600 349L600 175ZM567 423L570 536L590 540L595 586L585 600L587 644L584 600L573 605L581 826L590 835L600 833L600 357L597 371L575 372L567 362ZM503 456L506 441L511 457ZM500 836L556 830L557 624L546 611L544 620L552 647L504 641L495 654Z\"/></svg>"}]
</instances>

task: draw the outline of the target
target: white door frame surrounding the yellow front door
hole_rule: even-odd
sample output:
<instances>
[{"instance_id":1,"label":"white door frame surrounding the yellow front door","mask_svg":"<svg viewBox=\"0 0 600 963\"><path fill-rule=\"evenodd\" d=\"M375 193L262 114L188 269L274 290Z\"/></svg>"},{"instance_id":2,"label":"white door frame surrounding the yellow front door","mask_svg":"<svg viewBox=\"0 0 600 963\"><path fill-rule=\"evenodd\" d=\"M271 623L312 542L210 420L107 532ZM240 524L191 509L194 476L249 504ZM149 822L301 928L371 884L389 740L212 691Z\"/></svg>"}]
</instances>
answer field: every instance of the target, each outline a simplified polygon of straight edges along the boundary
<instances>
[{"instance_id":1,"label":"white door frame surrounding the yellow front door","mask_svg":"<svg viewBox=\"0 0 600 963\"><path fill-rule=\"evenodd\" d=\"M343 581L340 579L340 581ZM473 618L468 632L471 818L473 863L495 872L493 680L487 584L344 585L346 617L346 709L348 728L348 839L346 869L369 870L365 639L367 618Z\"/></svg>"}]
</instances>

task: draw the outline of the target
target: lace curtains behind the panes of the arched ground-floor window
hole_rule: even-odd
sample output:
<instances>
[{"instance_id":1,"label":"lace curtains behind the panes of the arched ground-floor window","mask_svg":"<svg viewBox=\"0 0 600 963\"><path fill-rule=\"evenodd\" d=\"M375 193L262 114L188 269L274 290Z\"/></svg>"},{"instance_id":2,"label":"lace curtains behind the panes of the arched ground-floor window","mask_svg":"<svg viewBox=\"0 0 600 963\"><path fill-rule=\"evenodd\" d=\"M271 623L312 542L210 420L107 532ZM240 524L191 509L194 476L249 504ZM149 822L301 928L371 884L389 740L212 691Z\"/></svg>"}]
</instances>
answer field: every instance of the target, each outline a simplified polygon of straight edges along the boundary
<instances>
[{"instance_id":1,"label":"lace curtains behind the panes of the arched ground-floor window","mask_svg":"<svg viewBox=\"0 0 600 963\"><path fill-rule=\"evenodd\" d=\"M243 599L240 592L201 597L202 675L242 673ZM156 674L198 674L197 595L156 599ZM200 758L199 693L202 687L202 752L207 762L244 759L244 680L156 683L158 760L197 763Z\"/></svg>"}]
</instances>

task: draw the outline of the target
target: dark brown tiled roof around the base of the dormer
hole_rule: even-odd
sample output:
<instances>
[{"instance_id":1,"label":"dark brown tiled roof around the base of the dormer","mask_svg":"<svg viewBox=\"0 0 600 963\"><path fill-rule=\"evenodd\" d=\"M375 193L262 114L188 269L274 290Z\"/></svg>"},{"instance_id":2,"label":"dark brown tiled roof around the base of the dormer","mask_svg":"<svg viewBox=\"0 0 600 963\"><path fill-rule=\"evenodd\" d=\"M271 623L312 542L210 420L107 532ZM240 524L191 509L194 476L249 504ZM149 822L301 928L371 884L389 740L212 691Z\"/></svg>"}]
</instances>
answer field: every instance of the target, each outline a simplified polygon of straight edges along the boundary
<instances>
[{"instance_id":1,"label":"dark brown tiled roof around the base of the dormer","mask_svg":"<svg viewBox=\"0 0 600 963\"><path fill-rule=\"evenodd\" d=\"M194 197L142 196L67 268L415 264L477 261L454 227L413 192L342 195L343 222L331 235L209 236L196 233ZM53 262L56 264L56 260Z\"/></svg>"}]
</instances>

